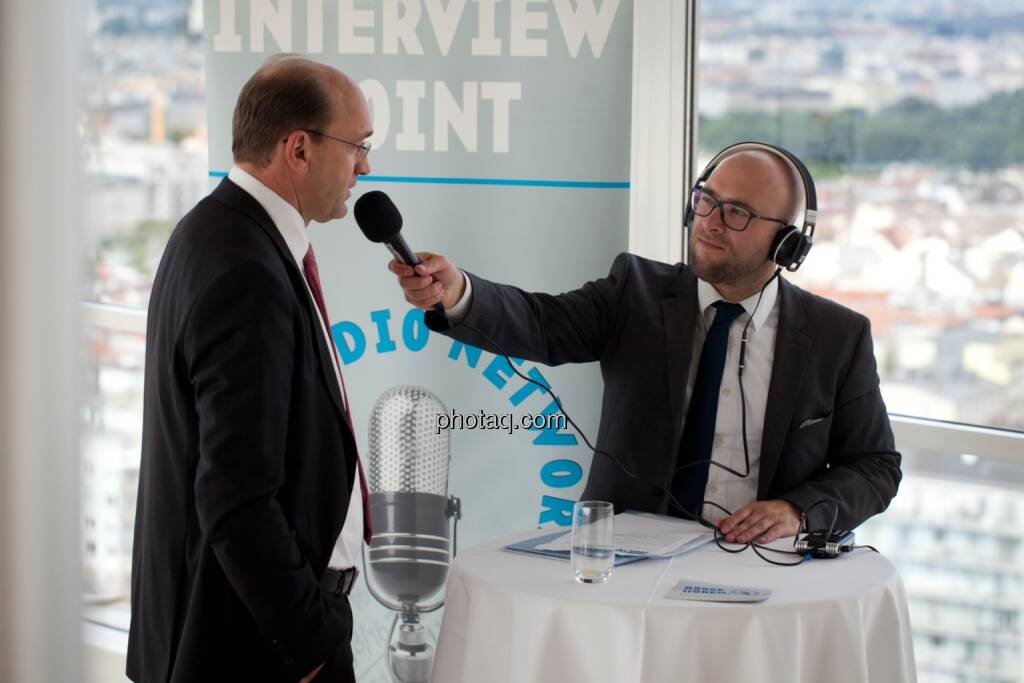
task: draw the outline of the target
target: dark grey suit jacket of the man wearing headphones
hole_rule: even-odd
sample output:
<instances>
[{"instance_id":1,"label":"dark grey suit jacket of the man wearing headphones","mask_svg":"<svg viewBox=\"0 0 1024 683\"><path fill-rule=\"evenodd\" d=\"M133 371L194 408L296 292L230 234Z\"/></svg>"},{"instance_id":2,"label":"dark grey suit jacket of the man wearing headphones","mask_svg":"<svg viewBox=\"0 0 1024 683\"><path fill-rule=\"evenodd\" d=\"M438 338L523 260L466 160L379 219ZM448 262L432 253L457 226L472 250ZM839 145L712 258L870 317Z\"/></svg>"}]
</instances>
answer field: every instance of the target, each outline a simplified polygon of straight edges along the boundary
<instances>
[{"instance_id":1,"label":"dark grey suit jacket of the man wearing headphones","mask_svg":"<svg viewBox=\"0 0 1024 683\"><path fill-rule=\"evenodd\" d=\"M596 445L637 477L596 455L584 498L665 513L697 319L693 271L621 254L607 278L558 296L469 276L473 300L464 322L509 354L549 366L601 364ZM785 499L802 510L835 502L839 526L853 528L889 505L900 480L870 327L863 315L781 279L779 297L758 499ZM497 351L465 327L450 334ZM827 526L830 517L831 509L819 506L809 521Z\"/></svg>"}]
</instances>

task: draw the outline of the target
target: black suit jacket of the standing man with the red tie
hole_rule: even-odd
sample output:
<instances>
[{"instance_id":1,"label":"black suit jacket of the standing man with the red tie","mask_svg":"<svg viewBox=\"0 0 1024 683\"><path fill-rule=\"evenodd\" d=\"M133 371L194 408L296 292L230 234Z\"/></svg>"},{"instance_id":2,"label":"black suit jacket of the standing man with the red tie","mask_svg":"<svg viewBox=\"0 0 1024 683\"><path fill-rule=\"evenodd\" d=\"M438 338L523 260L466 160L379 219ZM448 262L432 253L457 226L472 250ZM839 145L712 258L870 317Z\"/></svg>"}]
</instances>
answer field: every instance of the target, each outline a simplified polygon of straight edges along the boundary
<instances>
[{"instance_id":1,"label":"black suit jacket of the standing man with the red tie","mask_svg":"<svg viewBox=\"0 0 1024 683\"><path fill-rule=\"evenodd\" d=\"M150 301L129 678L297 681L350 657L347 599L317 584L355 467L331 362L284 239L225 178Z\"/></svg>"}]
</instances>

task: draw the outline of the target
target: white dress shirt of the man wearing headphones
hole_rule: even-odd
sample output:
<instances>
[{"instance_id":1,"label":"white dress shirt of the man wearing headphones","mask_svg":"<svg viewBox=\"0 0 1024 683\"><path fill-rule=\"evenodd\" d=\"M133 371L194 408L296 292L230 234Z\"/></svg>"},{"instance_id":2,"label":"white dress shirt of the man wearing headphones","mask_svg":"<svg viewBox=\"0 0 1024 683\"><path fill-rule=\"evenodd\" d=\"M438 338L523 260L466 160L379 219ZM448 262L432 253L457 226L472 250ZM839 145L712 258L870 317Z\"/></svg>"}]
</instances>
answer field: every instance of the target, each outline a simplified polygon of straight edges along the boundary
<instances>
[{"instance_id":1,"label":"white dress shirt of the man wearing headphones","mask_svg":"<svg viewBox=\"0 0 1024 683\"><path fill-rule=\"evenodd\" d=\"M469 311L472 303L472 288L468 275L466 291L458 303L447 309L449 317L459 321ZM720 467L711 465L708 471L708 485L705 487L705 500L714 501L730 512L753 503L758 498L758 473L761 465L761 432L765 424L765 408L768 402L768 385L771 383L772 361L775 358L775 334L778 331L778 279L774 278L764 290L764 295L758 292L739 301L744 313L741 313L729 328L729 341L725 355L725 371L722 373L722 386L718 394L718 413L715 418L715 440L712 444L711 457L717 463L743 472L746 465L743 460L742 413L740 409L739 379L739 345L742 339L743 326L750 322L746 329L746 354L743 358L746 368L743 370L743 394L746 398L746 445L751 457L751 470L748 476L737 477ZM760 304L758 298L761 298ZM700 315L697 316L696 329L693 331L692 359L690 371L686 378L686 403L683 411L685 427L686 413L690 405L690 396L696 382L697 367L700 365L700 351L703 349L708 329L715 319L715 309L712 304L723 300L721 294L711 283L697 279L697 304ZM751 319L754 315L754 319ZM668 485L668 483L667 483ZM705 505L701 515L711 521L726 517L726 513L715 506Z\"/></svg>"}]
</instances>

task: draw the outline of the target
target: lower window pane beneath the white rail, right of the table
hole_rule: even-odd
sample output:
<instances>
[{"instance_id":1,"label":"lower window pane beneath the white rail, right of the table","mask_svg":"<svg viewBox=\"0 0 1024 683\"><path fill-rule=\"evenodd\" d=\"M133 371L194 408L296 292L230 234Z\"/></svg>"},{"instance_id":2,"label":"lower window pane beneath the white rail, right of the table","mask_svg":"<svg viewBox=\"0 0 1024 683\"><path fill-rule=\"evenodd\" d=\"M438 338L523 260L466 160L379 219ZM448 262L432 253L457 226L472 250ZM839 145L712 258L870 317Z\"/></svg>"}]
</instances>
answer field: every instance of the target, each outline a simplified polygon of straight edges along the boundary
<instances>
[{"instance_id":1,"label":"lower window pane beneath the white rail, right of the table","mask_svg":"<svg viewBox=\"0 0 1024 683\"><path fill-rule=\"evenodd\" d=\"M1024 463L904 458L892 507L856 533L903 578L920 680L1022 680Z\"/></svg>"}]
</instances>

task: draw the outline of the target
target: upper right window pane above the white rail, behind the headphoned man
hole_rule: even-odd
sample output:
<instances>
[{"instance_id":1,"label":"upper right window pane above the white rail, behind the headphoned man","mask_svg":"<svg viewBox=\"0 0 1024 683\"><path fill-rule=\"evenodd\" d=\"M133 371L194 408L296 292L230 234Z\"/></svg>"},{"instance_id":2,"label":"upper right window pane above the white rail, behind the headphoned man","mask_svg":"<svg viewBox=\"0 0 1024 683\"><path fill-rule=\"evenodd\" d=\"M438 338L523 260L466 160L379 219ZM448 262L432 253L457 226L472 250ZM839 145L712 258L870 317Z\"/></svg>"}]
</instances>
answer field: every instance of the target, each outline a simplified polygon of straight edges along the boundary
<instances>
[{"instance_id":1,"label":"upper right window pane above the white rail, behind the headphoned man","mask_svg":"<svg viewBox=\"0 0 1024 683\"><path fill-rule=\"evenodd\" d=\"M1024 5L701 7L700 161L755 139L808 164L787 276L871 319L890 412L1024 430Z\"/></svg>"}]
</instances>

